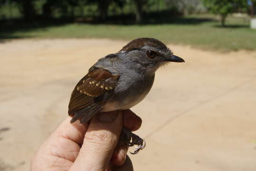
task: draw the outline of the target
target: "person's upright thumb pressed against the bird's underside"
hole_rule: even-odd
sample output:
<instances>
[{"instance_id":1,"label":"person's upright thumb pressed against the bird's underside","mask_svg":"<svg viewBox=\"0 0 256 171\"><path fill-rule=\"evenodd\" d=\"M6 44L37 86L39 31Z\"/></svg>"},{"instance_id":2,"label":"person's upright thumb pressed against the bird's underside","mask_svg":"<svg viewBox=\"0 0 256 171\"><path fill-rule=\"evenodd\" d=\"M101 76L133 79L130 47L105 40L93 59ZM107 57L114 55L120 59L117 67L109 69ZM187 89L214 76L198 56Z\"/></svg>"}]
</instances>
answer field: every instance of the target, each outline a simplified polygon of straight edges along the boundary
<instances>
[{"instance_id":1,"label":"person's upright thumb pressed against the bird's underside","mask_svg":"<svg viewBox=\"0 0 256 171\"><path fill-rule=\"evenodd\" d=\"M92 118L70 171L105 171L117 146L122 126L122 111L100 113Z\"/></svg>"}]
</instances>

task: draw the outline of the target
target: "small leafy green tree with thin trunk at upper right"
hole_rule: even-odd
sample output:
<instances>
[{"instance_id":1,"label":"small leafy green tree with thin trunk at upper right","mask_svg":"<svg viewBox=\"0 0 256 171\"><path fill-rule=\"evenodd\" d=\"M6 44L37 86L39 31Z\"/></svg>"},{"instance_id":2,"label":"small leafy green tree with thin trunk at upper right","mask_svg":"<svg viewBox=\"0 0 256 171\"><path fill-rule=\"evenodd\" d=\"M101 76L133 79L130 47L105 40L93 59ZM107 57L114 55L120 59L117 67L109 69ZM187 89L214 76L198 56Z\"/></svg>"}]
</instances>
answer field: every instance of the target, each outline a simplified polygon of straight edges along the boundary
<instances>
[{"instance_id":1,"label":"small leafy green tree with thin trunk at upper right","mask_svg":"<svg viewBox=\"0 0 256 171\"><path fill-rule=\"evenodd\" d=\"M207 9L221 17L221 26L225 26L226 17L247 5L246 0L203 0Z\"/></svg>"}]
</instances>

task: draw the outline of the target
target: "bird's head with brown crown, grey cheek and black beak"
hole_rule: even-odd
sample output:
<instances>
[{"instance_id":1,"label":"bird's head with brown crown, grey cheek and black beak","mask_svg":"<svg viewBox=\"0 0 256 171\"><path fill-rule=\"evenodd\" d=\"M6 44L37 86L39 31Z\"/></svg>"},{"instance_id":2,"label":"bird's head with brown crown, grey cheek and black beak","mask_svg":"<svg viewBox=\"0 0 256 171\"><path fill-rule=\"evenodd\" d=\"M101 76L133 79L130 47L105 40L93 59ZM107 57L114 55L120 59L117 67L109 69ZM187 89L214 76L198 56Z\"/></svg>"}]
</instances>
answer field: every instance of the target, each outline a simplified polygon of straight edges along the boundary
<instances>
[{"instance_id":1,"label":"bird's head with brown crown, grey cheek and black beak","mask_svg":"<svg viewBox=\"0 0 256 171\"><path fill-rule=\"evenodd\" d=\"M155 38L137 38L124 46L119 53L124 54L126 62L133 62L131 67L145 68L154 73L167 62L185 62L181 57L173 55L172 51Z\"/></svg>"}]
</instances>

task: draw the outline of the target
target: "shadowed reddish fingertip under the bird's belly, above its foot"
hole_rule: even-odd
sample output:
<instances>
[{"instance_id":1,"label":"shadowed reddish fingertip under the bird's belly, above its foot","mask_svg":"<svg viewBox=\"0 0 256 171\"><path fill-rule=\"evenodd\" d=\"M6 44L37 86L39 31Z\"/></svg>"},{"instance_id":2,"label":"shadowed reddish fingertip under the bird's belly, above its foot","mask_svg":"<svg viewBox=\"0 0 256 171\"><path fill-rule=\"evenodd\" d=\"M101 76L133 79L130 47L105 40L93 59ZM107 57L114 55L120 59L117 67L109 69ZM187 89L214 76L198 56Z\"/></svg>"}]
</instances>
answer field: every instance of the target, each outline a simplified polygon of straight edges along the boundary
<instances>
[{"instance_id":1,"label":"shadowed reddish fingertip under the bird's belly, above its foot","mask_svg":"<svg viewBox=\"0 0 256 171\"><path fill-rule=\"evenodd\" d=\"M124 127L130 131L136 131L140 128L142 120L130 109L123 110Z\"/></svg>"}]
</instances>

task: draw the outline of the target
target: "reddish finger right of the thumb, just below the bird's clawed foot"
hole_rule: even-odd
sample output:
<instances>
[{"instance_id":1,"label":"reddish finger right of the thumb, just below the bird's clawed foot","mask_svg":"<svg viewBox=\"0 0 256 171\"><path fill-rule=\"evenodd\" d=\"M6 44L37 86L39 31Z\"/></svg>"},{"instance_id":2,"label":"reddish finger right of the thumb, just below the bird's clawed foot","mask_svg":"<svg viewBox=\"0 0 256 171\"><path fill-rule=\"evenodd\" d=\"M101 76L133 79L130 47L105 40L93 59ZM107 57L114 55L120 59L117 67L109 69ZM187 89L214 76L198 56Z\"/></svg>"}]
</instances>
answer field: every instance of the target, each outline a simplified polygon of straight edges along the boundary
<instances>
[{"instance_id":1,"label":"reddish finger right of the thumb, just below the bird's clawed foot","mask_svg":"<svg viewBox=\"0 0 256 171\"><path fill-rule=\"evenodd\" d=\"M111 157L111 163L115 166L121 166L124 164L126 160L126 154L128 151L128 146L124 144L122 141L118 141L118 145L116 146L114 153Z\"/></svg>"}]
</instances>

